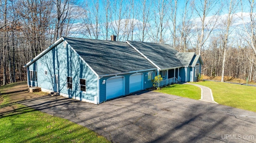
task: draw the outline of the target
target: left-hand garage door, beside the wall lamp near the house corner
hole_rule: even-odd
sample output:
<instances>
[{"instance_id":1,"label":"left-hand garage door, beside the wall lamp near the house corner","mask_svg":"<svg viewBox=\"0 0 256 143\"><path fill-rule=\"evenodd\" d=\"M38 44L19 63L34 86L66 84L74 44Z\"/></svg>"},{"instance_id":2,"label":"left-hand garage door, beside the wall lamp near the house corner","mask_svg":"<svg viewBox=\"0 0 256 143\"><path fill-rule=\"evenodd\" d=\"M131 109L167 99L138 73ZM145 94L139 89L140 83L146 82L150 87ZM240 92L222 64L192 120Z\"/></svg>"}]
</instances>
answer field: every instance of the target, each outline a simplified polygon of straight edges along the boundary
<instances>
[{"instance_id":1,"label":"left-hand garage door, beside the wall lamp near the house corner","mask_svg":"<svg viewBox=\"0 0 256 143\"><path fill-rule=\"evenodd\" d=\"M109 78L106 81L107 100L122 95L124 95L124 77Z\"/></svg>"}]
</instances>

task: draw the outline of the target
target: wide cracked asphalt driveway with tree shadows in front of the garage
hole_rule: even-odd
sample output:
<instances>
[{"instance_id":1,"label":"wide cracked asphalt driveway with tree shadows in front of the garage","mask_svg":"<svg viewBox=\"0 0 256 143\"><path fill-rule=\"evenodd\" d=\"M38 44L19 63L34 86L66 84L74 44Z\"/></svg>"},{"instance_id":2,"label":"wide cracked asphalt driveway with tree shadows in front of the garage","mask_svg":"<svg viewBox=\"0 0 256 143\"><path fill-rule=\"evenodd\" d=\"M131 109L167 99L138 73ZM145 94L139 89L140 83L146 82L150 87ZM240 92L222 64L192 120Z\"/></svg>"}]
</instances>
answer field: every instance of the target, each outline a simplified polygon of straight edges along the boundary
<instances>
[{"instance_id":1,"label":"wide cracked asphalt driveway with tree shadows in front of the garage","mask_svg":"<svg viewBox=\"0 0 256 143\"><path fill-rule=\"evenodd\" d=\"M256 143L256 112L159 92L100 105L62 96L45 96L21 104L69 119L112 142Z\"/></svg>"}]
</instances>

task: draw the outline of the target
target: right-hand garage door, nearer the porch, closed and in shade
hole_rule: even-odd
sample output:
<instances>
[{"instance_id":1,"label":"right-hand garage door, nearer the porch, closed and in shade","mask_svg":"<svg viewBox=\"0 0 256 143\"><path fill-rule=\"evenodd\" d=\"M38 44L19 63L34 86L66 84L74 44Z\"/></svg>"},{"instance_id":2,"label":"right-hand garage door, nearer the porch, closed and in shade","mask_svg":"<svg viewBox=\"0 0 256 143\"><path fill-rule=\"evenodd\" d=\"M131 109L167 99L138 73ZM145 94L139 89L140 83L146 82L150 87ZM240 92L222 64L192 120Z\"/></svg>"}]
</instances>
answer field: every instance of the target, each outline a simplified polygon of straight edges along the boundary
<instances>
[{"instance_id":1,"label":"right-hand garage door, nearer the porch, closed and in shade","mask_svg":"<svg viewBox=\"0 0 256 143\"><path fill-rule=\"evenodd\" d=\"M142 74L130 76L130 93L142 90Z\"/></svg>"}]
</instances>

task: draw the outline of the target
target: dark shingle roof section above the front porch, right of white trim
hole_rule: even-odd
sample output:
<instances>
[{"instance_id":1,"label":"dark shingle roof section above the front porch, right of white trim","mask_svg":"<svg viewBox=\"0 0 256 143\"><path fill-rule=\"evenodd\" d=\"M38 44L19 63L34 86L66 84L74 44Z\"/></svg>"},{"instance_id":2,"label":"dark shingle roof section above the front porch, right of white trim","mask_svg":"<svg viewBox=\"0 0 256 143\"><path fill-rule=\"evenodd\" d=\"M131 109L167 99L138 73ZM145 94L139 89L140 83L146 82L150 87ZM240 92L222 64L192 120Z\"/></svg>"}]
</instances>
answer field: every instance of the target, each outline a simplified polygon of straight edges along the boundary
<instances>
[{"instance_id":1,"label":"dark shingle roof section above the front porch, right of white trim","mask_svg":"<svg viewBox=\"0 0 256 143\"><path fill-rule=\"evenodd\" d=\"M158 65L161 69L167 69L172 67L182 67L183 64L176 57L176 51L168 44L158 43L145 43L137 41L128 41L141 53L143 53L153 63Z\"/></svg>"}]
</instances>

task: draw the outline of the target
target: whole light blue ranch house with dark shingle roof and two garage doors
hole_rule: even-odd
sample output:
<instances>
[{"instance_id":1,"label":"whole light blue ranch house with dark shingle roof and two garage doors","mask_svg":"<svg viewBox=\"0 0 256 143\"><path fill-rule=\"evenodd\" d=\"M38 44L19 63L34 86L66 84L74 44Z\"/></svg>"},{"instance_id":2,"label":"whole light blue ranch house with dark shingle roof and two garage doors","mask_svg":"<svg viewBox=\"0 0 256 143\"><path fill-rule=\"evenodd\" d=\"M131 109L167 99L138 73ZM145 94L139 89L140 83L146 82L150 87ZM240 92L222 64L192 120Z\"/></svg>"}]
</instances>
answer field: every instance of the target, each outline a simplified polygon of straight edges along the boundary
<instances>
[{"instance_id":1,"label":"whole light blue ranch house with dark shingle roof and two garage doors","mask_svg":"<svg viewBox=\"0 0 256 143\"><path fill-rule=\"evenodd\" d=\"M199 55L167 44L61 37L28 62L28 86L94 104L153 86L198 80Z\"/></svg>"}]
</instances>

